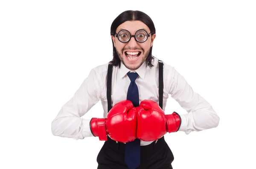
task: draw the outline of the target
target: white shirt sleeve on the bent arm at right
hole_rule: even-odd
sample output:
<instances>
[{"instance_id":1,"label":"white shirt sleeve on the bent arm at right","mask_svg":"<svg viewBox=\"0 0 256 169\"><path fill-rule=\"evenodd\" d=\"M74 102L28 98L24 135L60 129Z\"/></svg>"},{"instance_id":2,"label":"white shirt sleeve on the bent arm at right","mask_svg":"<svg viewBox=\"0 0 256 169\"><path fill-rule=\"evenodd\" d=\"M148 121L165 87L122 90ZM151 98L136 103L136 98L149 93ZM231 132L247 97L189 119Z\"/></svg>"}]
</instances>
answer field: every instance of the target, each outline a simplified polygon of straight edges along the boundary
<instances>
[{"instance_id":1,"label":"white shirt sleeve on the bent arm at right","mask_svg":"<svg viewBox=\"0 0 256 169\"><path fill-rule=\"evenodd\" d=\"M212 106L201 95L194 92L185 78L172 66L166 65L166 90L179 105L186 110L180 114L181 126L179 131L189 134L218 126L219 117ZM178 113L178 112L177 112ZM178 113L179 114L179 113Z\"/></svg>"}]
</instances>

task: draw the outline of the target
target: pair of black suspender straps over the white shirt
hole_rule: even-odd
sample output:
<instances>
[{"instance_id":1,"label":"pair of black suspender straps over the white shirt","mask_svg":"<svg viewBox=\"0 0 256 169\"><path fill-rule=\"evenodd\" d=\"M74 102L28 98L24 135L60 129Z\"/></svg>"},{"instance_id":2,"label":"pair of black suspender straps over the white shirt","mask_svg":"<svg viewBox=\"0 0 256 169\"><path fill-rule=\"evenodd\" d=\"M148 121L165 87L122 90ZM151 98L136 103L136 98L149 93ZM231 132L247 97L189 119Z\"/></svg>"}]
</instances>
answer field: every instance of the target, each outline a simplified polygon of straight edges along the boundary
<instances>
[{"instance_id":1,"label":"pair of black suspender straps over the white shirt","mask_svg":"<svg viewBox=\"0 0 256 169\"><path fill-rule=\"evenodd\" d=\"M158 60L159 64L159 106L163 109L163 61ZM112 80L112 68L111 63L108 64L108 75L107 75L107 100L108 100L108 112L112 108L111 103L111 80Z\"/></svg>"}]
</instances>

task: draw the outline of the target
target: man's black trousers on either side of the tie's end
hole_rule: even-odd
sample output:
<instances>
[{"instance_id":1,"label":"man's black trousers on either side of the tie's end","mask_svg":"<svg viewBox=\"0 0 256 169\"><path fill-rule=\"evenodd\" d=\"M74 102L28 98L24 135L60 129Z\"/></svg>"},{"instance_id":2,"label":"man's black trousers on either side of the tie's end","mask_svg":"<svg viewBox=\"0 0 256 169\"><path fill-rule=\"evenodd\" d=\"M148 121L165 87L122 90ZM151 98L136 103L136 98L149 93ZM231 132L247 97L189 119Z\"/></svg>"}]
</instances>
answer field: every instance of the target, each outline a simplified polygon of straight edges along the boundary
<instances>
[{"instance_id":1,"label":"man's black trousers on either side of the tie's end","mask_svg":"<svg viewBox=\"0 0 256 169\"><path fill-rule=\"evenodd\" d=\"M173 154L164 137L147 146L140 146L140 166L137 169L172 169ZM108 137L97 156L97 169L128 169L125 164L125 144Z\"/></svg>"}]
</instances>

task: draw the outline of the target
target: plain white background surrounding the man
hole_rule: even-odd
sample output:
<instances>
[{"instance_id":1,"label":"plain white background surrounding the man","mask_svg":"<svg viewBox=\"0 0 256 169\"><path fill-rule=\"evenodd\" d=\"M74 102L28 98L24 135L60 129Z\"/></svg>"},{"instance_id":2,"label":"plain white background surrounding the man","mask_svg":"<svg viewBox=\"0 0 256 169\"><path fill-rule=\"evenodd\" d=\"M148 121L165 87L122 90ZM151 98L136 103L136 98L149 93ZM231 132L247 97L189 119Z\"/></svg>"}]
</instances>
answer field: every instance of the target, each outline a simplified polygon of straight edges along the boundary
<instances>
[{"instance_id":1,"label":"plain white background surrounding the man","mask_svg":"<svg viewBox=\"0 0 256 169\"><path fill-rule=\"evenodd\" d=\"M220 117L217 128L165 136L174 169L255 169L256 5L251 0L0 1L0 168L96 169L102 141L56 137L51 122L90 69L112 59L125 10L154 21L153 55ZM186 113L169 99L166 113ZM97 103L83 118L102 117Z\"/></svg>"}]
</instances>

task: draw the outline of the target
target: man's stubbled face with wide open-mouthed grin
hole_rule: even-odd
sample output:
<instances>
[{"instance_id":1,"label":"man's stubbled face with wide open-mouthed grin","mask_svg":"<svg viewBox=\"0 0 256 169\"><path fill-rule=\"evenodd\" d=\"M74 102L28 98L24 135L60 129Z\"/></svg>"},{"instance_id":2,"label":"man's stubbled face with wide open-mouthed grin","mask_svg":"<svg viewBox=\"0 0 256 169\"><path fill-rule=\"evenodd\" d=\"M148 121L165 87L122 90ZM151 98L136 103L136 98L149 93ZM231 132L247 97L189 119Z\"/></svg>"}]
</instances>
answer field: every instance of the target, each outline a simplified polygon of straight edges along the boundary
<instances>
[{"instance_id":1,"label":"man's stubbled face with wide open-mouthed grin","mask_svg":"<svg viewBox=\"0 0 256 169\"><path fill-rule=\"evenodd\" d=\"M117 27L116 33L118 34L118 32L123 29L129 31L131 35L135 35L139 29L145 30L148 34L150 33L148 26L139 20L126 21L122 23ZM139 34L138 36L143 37L143 34ZM126 43L120 42L116 36L111 37L116 48L116 52L125 67L130 70L136 70L146 60L150 48L153 46L155 36L155 34L150 35L143 43L137 42L135 37L131 37L131 40Z\"/></svg>"}]
</instances>

